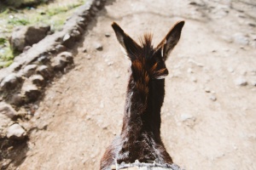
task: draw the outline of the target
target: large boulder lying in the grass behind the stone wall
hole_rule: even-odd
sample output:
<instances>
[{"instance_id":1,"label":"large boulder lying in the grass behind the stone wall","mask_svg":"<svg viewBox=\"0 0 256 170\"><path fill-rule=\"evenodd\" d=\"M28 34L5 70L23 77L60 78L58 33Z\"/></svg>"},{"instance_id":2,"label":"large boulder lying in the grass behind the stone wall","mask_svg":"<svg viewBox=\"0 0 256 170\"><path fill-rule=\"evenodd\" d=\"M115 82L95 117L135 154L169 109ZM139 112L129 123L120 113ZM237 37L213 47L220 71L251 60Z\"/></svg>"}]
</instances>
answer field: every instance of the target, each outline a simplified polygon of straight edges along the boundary
<instances>
[{"instance_id":1,"label":"large boulder lying in the grass behind the stone wall","mask_svg":"<svg viewBox=\"0 0 256 170\"><path fill-rule=\"evenodd\" d=\"M11 47L22 52L26 46L32 46L47 36L50 26L19 26L9 38Z\"/></svg>"}]
</instances>

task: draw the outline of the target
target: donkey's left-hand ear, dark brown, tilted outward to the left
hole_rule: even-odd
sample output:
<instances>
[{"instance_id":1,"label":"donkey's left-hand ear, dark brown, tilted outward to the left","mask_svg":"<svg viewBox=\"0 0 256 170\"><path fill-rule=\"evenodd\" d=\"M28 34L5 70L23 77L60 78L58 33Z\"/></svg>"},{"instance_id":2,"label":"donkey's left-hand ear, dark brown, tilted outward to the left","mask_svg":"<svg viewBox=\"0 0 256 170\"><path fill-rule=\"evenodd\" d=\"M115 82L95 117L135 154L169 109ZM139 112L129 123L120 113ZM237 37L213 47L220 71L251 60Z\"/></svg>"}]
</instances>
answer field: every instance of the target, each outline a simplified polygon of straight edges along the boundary
<instances>
[{"instance_id":1,"label":"donkey's left-hand ear, dark brown, tilted outward to the left","mask_svg":"<svg viewBox=\"0 0 256 170\"><path fill-rule=\"evenodd\" d=\"M117 25L115 22L112 24L113 31L115 32L115 35L121 44L121 46L125 49L126 54L128 57L133 60L135 59L135 55L137 50L141 47L135 42L131 37L129 37L125 31L121 29L119 25Z\"/></svg>"}]
</instances>

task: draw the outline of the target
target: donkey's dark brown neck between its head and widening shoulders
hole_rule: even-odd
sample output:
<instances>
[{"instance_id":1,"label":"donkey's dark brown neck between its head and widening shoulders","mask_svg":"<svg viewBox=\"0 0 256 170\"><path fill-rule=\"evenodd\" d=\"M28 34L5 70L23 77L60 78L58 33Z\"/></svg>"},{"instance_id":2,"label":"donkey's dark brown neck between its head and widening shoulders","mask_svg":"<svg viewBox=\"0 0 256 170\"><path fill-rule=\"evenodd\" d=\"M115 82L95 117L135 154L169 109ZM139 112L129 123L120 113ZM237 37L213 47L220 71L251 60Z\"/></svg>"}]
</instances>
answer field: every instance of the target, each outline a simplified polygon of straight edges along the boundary
<instances>
[{"instance_id":1,"label":"donkey's dark brown neck between its head and widening shoulders","mask_svg":"<svg viewBox=\"0 0 256 170\"><path fill-rule=\"evenodd\" d=\"M160 138L160 108L164 101L164 88L164 79L149 79L147 82L136 80L131 75L126 94L122 133L146 132Z\"/></svg>"}]
</instances>

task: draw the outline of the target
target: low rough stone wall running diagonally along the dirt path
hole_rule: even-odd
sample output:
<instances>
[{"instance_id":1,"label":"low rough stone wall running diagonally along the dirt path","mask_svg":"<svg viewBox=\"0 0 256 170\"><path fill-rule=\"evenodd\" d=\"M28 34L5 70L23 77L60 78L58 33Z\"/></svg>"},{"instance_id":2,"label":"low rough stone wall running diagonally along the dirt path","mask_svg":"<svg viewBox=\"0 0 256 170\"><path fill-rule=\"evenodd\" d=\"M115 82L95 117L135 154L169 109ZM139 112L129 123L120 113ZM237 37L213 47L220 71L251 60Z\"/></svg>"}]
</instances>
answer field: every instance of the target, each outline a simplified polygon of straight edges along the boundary
<instances>
[{"instance_id":1,"label":"low rough stone wall running diagonally along the dirt path","mask_svg":"<svg viewBox=\"0 0 256 170\"><path fill-rule=\"evenodd\" d=\"M68 49L83 37L90 20L106 0L88 0L65 23L62 31L45 37L26 52L15 57L9 67L0 70L0 140L26 139L29 127L19 124L19 117L29 115L31 103L37 101L44 88L70 68L73 54Z\"/></svg>"}]
</instances>

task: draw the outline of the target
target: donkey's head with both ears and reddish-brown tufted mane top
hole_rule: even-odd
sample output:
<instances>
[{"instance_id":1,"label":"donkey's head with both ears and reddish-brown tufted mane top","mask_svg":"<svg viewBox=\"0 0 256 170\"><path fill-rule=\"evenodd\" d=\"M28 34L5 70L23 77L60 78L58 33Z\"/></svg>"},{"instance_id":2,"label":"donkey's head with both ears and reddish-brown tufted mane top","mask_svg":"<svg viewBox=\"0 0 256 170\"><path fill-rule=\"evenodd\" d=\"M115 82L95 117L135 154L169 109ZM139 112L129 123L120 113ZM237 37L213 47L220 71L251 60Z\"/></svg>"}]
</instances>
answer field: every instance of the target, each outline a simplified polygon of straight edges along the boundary
<instances>
[{"instance_id":1,"label":"donkey's head with both ears and reddish-brown tufted mane top","mask_svg":"<svg viewBox=\"0 0 256 170\"><path fill-rule=\"evenodd\" d=\"M112 27L116 37L127 57L131 59L131 71L134 78L163 79L168 75L165 62L180 38L183 25L184 21L177 22L154 48L151 34L145 34L140 39L140 44L137 44L119 25L113 22Z\"/></svg>"}]
</instances>

